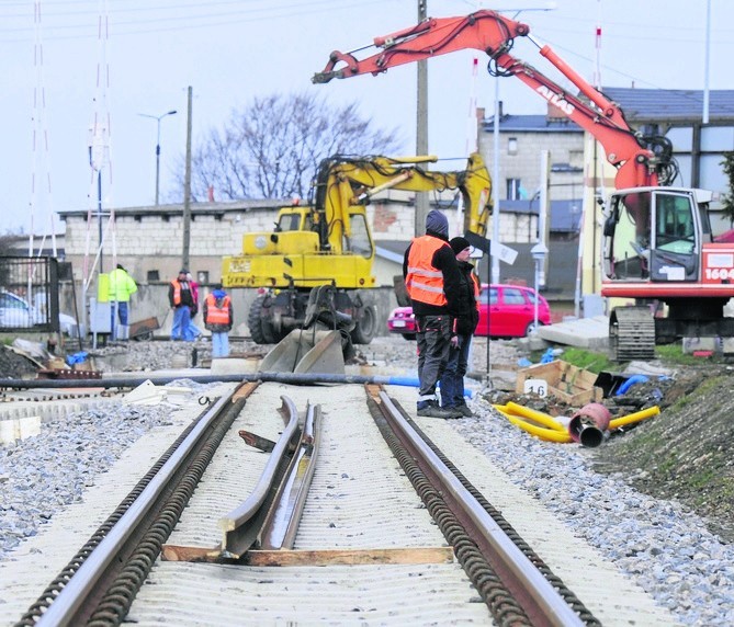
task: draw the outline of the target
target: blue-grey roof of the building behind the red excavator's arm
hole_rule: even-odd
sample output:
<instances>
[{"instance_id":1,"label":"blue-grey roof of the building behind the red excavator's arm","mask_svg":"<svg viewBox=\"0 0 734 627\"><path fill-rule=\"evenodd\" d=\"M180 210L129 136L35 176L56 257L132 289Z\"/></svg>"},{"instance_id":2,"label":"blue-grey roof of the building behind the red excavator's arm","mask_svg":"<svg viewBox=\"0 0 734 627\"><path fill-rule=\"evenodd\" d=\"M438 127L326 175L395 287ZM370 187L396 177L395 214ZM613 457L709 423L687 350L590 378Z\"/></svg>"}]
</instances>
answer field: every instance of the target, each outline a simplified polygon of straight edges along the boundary
<instances>
[{"instance_id":1,"label":"blue-grey roof of the building behind the red excavator's arm","mask_svg":"<svg viewBox=\"0 0 734 627\"><path fill-rule=\"evenodd\" d=\"M703 91L606 87L605 95L622 107L628 122L700 121ZM734 90L709 92L710 122L734 122Z\"/></svg>"}]
</instances>

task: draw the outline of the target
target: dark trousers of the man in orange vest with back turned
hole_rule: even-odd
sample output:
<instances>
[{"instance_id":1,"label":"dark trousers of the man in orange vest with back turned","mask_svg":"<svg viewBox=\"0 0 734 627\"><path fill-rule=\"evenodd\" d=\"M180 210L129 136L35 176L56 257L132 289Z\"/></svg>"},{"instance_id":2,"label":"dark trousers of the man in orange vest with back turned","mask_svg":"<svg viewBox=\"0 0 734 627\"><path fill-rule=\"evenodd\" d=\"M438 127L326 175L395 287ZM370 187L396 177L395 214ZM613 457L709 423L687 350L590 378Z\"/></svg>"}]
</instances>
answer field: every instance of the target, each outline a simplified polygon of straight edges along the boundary
<instances>
[{"instance_id":1,"label":"dark trousers of the man in orange vest with back turned","mask_svg":"<svg viewBox=\"0 0 734 627\"><path fill-rule=\"evenodd\" d=\"M418 409L438 404L436 384L441 378L451 346L451 316L417 316Z\"/></svg>"}]
</instances>

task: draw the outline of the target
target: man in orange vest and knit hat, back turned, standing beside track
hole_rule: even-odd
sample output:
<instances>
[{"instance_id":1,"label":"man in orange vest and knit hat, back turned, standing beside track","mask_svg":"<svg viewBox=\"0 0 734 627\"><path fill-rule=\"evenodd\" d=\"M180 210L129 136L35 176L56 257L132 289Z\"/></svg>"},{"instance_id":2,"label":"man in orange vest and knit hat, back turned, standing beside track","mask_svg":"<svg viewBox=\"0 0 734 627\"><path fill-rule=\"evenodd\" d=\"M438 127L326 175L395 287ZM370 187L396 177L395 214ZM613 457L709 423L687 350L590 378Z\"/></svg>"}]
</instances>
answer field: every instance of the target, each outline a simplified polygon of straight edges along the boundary
<instances>
[{"instance_id":1,"label":"man in orange vest and knit hat, back turned, standing beside track","mask_svg":"<svg viewBox=\"0 0 734 627\"><path fill-rule=\"evenodd\" d=\"M456 256L449 246L449 221L441 212L429 212L426 235L415 238L405 251L403 276L417 324L418 415L460 418L460 412L441 408L436 397L449 347L458 342L451 311L456 309L461 284Z\"/></svg>"}]
</instances>

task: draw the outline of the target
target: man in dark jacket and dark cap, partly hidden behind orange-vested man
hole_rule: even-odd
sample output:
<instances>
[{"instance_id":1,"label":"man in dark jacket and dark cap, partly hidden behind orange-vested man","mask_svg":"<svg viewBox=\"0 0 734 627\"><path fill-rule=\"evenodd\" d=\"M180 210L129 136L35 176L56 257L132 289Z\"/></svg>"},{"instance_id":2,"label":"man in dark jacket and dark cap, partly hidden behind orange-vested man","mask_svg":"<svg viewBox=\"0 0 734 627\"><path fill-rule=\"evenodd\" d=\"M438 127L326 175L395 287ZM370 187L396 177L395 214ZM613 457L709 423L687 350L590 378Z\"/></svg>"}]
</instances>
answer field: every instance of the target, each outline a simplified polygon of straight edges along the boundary
<instances>
[{"instance_id":1,"label":"man in dark jacket and dark cap, partly hidden behind orange-vested man","mask_svg":"<svg viewBox=\"0 0 734 627\"><path fill-rule=\"evenodd\" d=\"M441 407L471 417L472 410L466 407L464 399L464 375L468 366L472 335L479 322L479 281L474 274L474 266L468 263L468 241L463 237L455 237L449 244L456 254L461 284L458 307L452 311L456 320L458 342L451 345L449 361L441 377Z\"/></svg>"}]
</instances>

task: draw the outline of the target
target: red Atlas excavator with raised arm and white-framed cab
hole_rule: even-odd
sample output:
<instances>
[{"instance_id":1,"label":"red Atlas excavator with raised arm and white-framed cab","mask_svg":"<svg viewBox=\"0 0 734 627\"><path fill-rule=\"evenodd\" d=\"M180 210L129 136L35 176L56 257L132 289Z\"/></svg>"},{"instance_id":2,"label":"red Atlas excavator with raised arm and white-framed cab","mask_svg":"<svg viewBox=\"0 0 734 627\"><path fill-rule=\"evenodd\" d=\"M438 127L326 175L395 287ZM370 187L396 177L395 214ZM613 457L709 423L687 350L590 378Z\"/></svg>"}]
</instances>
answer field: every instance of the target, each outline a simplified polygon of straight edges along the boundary
<instances>
[{"instance_id":1,"label":"red Atlas excavator with raised arm and white-framed cab","mask_svg":"<svg viewBox=\"0 0 734 627\"><path fill-rule=\"evenodd\" d=\"M579 93L563 89L510 52L528 37ZM357 59L334 52L315 83L387 69L455 50L474 48L489 57L492 76L516 77L590 133L617 168L616 192L606 207L601 295L634 298L610 315L612 351L620 361L652 358L655 344L679 338L734 337L724 306L734 296L734 244L714 243L705 190L669 186L678 174L670 141L630 128L619 105L591 87L527 24L495 11L427 19L416 26L375 37L377 54ZM658 307L667 306L664 317Z\"/></svg>"}]
</instances>

